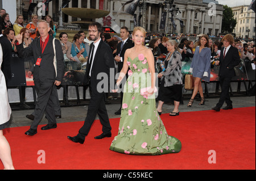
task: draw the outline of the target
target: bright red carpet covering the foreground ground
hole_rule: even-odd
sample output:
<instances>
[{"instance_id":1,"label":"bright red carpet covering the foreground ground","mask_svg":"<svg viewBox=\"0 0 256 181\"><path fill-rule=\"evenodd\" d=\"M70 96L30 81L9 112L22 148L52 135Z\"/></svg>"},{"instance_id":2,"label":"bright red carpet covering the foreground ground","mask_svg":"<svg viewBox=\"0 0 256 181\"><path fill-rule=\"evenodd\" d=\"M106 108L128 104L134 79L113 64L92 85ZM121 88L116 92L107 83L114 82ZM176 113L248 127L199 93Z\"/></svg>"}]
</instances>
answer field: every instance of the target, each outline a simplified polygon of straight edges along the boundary
<instances>
[{"instance_id":1,"label":"bright red carpet covering the foreground ground","mask_svg":"<svg viewBox=\"0 0 256 181\"><path fill-rule=\"evenodd\" d=\"M75 136L84 121L60 123L56 129L26 136L29 127L6 129L15 169L249 169L255 170L255 107L233 110L181 112L180 116L161 116L168 134L179 138L180 153L137 156L115 153L109 146L118 132L119 119L111 119L112 138L94 140L101 134L96 120L85 144L75 144ZM84 119L82 117L81 119ZM46 163L38 163L39 150L45 151ZM209 150L216 152L216 163L208 163ZM0 169L3 169L0 163Z\"/></svg>"}]
</instances>

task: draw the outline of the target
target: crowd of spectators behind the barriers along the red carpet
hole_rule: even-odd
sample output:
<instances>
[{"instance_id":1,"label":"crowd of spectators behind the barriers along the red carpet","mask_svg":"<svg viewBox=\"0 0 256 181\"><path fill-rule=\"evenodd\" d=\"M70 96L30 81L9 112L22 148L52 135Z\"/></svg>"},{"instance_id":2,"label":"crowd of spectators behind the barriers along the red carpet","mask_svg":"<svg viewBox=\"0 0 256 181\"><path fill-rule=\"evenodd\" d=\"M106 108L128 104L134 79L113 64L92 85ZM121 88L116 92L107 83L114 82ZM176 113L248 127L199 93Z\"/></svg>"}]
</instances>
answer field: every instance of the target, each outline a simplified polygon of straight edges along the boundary
<instances>
[{"instance_id":1,"label":"crowd of spectators behind the barriers along the red carpet","mask_svg":"<svg viewBox=\"0 0 256 181\"><path fill-rule=\"evenodd\" d=\"M3 36L7 37L7 39L10 41L13 51L16 52L16 37L18 33L23 32L23 44L28 46L36 37L39 36L37 31L37 25L39 22L38 15L32 15L31 16L31 22L28 23L25 27L24 20L22 15L17 15L15 23L10 22L9 14L6 13L5 10L0 11L0 25L2 26L3 30ZM53 37L56 37L57 32L57 24L53 22L53 19L50 15L46 15L44 20L46 20L49 23L49 27L51 27L51 31L49 34ZM28 36L29 33L29 36ZM189 36L196 36L197 40L191 41L189 40ZM177 42L177 47L179 49L179 52L181 54L183 62L187 62L188 60L192 60L195 49L199 45L199 38L201 35L197 34L189 34L185 35L183 33L180 33L180 35L166 35L164 33L158 33L158 34L150 34L148 33L146 36L146 47L150 48L152 50L152 53L155 57L155 71L156 73L160 73L163 71L164 67L164 60L166 59L166 56L168 53L167 50L167 42L170 39L175 39ZM220 49L223 47L222 41L213 41L211 37L209 37L209 48L211 50L211 68L214 67L214 61L218 60L220 57ZM75 66L75 71L81 71L82 74L86 71L86 62L88 59L88 53L89 53L89 45L92 43L90 41L90 37L86 35L86 32L79 31L73 36L73 41L68 41L68 33L66 32L60 32L59 37L56 37L60 40L64 59L66 62L66 74L69 75L72 73L72 70L74 69L74 64L70 66L71 64L68 64L67 62L77 62L77 65ZM113 51L113 57L115 57L115 52L117 50L117 44L122 40L117 35L112 36L110 33L103 33L101 38L110 46L110 48ZM235 42L233 44L234 47L236 47L239 50L240 58L245 59L248 58L250 61L254 62L255 64L255 43L254 41L246 42L245 40L235 39ZM67 68L67 65L69 65L69 68ZM68 71L68 73L67 73ZM73 71L74 73L74 71Z\"/></svg>"}]
</instances>

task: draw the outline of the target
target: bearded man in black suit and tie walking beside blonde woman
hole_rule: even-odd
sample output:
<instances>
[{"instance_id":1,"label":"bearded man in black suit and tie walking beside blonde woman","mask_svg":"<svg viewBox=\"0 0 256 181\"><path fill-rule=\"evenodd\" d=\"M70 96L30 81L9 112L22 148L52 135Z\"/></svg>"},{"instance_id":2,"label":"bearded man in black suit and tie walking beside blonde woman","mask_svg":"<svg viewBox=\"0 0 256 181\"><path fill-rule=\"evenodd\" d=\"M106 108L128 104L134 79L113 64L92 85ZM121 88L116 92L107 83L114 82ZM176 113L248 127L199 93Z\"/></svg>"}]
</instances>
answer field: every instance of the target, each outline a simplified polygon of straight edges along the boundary
<instances>
[{"instance_id":1,"label":"bearded man in black suit and tie walking beside blonde woman","mask_svg":"<svg viewBox=\"0 0 256 181\"><path fill-rule=\"evenodd\" d=\"M89 85L90 89L90 102L88 105L87 115L84 121L84 125L79 129L77 136L68 136L68 139L73 142L79 142L84 144L85 137L90 131L90 127L96 118L96 115L100 117L100 123L102 124L102 134L94 137L95 139L102 139L104 137L111 137L111 126L109 123L108 112L105 105L105 93L113 89L114 83L110 83L110 71L114 71L114 58L112 50L109 45L102 39L103 33L102 25L98 22L89 24L88 28L90 39L93 41L90 44L89 57L86 65L86 73L84 76L84 84ZM104 80L99 75L107 75L108 85L101 90L101 83ZM101 77L101 79L99 78ZM113 80L112 80L113 81ZM105 86L106 84L104 84ZM112 87L109 87L112 85ZM107 89L106 89L107 88Z\"/></svg>"}]
</instances>

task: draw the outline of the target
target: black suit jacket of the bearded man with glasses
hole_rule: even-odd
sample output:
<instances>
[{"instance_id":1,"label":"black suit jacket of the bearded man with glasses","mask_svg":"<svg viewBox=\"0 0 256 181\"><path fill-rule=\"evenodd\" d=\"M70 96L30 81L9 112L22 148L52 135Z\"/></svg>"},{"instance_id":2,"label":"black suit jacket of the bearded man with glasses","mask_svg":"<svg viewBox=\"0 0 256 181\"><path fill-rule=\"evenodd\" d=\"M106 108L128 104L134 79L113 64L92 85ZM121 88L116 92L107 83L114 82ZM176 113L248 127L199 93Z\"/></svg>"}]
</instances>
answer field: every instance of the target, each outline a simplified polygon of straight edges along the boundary
<instances>
[{"instance_id":1,"label":"black suit jacket of the bearded man with glasses","mask_svg":"<svg viewBox=\"0 0 256 181\"><path fill-rule=\"evenodd\" d=\"M92 51L92 47L93 47L93 43L90 44L90 51L89 51L89 56L88 56L88 60L90 60L90 53ZM86 65L86 73L84 76L84 84L88 85L89 80L91 83L91 87L92 87L92 91L97 91L97 85L99 82L101 82L103 79L104 81L106 80L106 77L100 77L99 79L97 79L97 75L100 73L105 73L106 75L108 75L108 86L112 85L111 89L114 89L114 85L113 85L113 81L114 81L114 77L110 77L110 69L112 68L112 71L114 71L114 57L113 57L113 53L112 50L110 49L109 45L106 44L104 41L100 40L100 44L98 45L97 51L95 53L95 57L93 60L93 65L92 65L92 71L91 71L91 77L89 77L89 61L87 62ZM114 72L115 73L115 72ZM114 74L113 74L114 76ZM110 81L112 81L113 83L110 83ZM102 82L101 82L102 83ZM104 85L105 86L105 85ZM106 87L104 87L104 91ZM108 90L109 91L109 87Z\"/></svg>"}]
</instances>

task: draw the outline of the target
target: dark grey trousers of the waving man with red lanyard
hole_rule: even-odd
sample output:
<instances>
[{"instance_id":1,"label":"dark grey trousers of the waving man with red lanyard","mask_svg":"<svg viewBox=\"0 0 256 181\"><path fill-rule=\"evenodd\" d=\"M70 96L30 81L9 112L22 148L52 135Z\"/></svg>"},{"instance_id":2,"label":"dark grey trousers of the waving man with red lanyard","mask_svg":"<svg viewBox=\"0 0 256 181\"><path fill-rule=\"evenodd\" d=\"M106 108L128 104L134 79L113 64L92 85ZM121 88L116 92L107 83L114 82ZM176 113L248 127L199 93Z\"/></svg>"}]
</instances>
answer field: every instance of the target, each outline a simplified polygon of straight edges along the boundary
<instances>
[{"instance_id":1,"label":"dark grey trousers of the waving man with red lanyard","mask_svg":"<svg viewBox=\"0 0 256 181\"><path fill-rule=\"evenodd\" d=\"M38 101L35 106L35 119L32 122L30 128L37 129L38 124L42 120L44 113L48 119L48 124L56 124L55 118L55 99L56 95L53 93L56 90L54 82L43 82L43 81L34 81L35 89L38 94Z\"/></svg>"}]
</instances>

